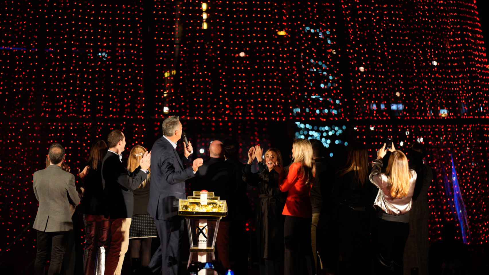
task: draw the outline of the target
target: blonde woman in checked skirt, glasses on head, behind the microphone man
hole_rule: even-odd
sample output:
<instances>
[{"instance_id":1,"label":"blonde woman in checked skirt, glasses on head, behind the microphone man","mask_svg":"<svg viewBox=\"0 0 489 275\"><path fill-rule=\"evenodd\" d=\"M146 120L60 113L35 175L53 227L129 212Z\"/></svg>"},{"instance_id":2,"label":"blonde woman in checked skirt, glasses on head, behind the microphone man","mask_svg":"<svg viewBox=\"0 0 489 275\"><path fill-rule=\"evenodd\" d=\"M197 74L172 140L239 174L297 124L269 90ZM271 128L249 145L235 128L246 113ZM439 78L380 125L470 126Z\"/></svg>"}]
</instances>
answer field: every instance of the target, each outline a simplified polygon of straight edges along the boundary
<instances>
[{"instance_id":1,"label":"blonde woman in checked skirt, glasses on head, behind the microphone man","mask_svg":"<svg viewBox=\"0 0 489 275\"><path fill-rule=\"evenodd\" d=\"M131 149L127 161L127 169L133 172L139 167L139 161L146 149L136 145ZM141 183L138 189L133 191L134 212L131 227L129 228L129 239L131 244L131 269L137 273L140 267L147 267L151 259L151 241L156 238L156 225L149 215L148 201L150 197L151 173Z\"/></svg>"}]
</instances>

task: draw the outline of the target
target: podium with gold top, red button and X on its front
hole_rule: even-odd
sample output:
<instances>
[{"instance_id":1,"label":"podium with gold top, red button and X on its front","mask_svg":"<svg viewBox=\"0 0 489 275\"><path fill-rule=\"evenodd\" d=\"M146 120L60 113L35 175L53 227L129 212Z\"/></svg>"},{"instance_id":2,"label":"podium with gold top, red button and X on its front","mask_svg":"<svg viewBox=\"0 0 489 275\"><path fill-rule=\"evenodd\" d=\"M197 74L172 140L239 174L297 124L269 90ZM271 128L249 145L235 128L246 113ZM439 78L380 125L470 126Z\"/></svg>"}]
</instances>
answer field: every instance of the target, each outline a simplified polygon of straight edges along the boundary
<instances>
[{"instance_id":1,"label":"podium with gold top, red button and X on its front","mask_svg":"<svg viewBox=\"0 0 489 275\"><path fill-rule=\"evenodd\" d=\"M214 255L219 221L227 215L227 204L214 192L194 191L187 199L178 200L178 215L185 217L190 243L187 269L192 262L207 263ZM210 267L209 267L210 268ZM212 269L202 269L198 275L217 275Z\"/></svg>"}]
</instances>

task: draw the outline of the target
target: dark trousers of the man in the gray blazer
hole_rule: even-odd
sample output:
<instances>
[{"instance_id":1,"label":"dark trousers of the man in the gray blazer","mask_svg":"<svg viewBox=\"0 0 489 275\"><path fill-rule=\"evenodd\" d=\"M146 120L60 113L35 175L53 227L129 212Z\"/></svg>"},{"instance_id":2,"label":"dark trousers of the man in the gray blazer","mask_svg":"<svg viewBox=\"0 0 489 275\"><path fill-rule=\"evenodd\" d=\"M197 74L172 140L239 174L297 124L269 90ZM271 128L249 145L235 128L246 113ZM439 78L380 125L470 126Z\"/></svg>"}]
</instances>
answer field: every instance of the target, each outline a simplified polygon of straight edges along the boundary
<instances>
[{"instance_id":1,"label":"dark trousers of the man in the gray blazer","mask_svg":"<svg viewBox=\"0 0 489 275\"><path fill-rule=\"evenodd\" d=\"M49 263L48 275L61 273L63 256L66 252L67 234L69 231L62 232L42 232L37 231L37 253L34 262L34 274L44 275L44 267L48 260L48 249L51 249L51 260Z\"/></svg>"}]
</instances>

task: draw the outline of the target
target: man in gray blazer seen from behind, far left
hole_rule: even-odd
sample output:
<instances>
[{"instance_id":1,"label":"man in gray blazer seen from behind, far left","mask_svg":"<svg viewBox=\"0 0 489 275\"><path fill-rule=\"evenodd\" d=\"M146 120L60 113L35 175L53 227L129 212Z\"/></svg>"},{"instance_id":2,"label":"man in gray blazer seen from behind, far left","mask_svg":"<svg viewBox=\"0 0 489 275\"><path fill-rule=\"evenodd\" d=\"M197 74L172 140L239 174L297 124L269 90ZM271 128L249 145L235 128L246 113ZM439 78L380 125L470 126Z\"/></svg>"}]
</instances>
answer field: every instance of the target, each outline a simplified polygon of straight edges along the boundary
<instances>
[{"instance_id":1,"label":"man in gray blazer seen from behind, far left","mask_svg":"<svg viewBox=\"0 0 489 275\"><path fill-rule=\"evenodd\" d=\"M36 275L44 275L48 249L51 263L48 275L61 272L63 255L66 251L67 233L73 230L71 205L80 203L75 187L75 176L61 166L65 160L65 149L59 143L49 148L49 165L34 173L34 194L39 201L36 220L32 228L37 230L37 253L34 263Z\"/></svg>"}]
</instances>

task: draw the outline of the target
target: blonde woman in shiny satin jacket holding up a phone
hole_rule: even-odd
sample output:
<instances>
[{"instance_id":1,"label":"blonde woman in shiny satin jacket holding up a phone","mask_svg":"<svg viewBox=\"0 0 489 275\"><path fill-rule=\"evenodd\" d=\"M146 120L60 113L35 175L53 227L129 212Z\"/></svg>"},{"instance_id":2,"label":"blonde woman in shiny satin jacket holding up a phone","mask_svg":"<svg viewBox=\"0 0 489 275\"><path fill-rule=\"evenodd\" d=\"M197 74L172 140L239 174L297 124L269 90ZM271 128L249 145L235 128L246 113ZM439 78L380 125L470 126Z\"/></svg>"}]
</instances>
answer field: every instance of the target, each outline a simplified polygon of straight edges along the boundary
<instances>
[{"instance_id":1,"label":"blonde woman in shiny satin jacket holding up a phone","mask_svg":"<svg viewBox=\"0 0 489 275\"><path fill-rule=\"evenodd\" d=\"M382 158L392 152L385 173L381 172ZM372 162L370 181L377 186L374 206L379 208L378 261L380 269L402 274L402 256L409 234L409 210L416 183L416 172L409 169L406 155L385 143ZM380 271L379 271L380 272Z\"/></svg>"}]
</instances>

